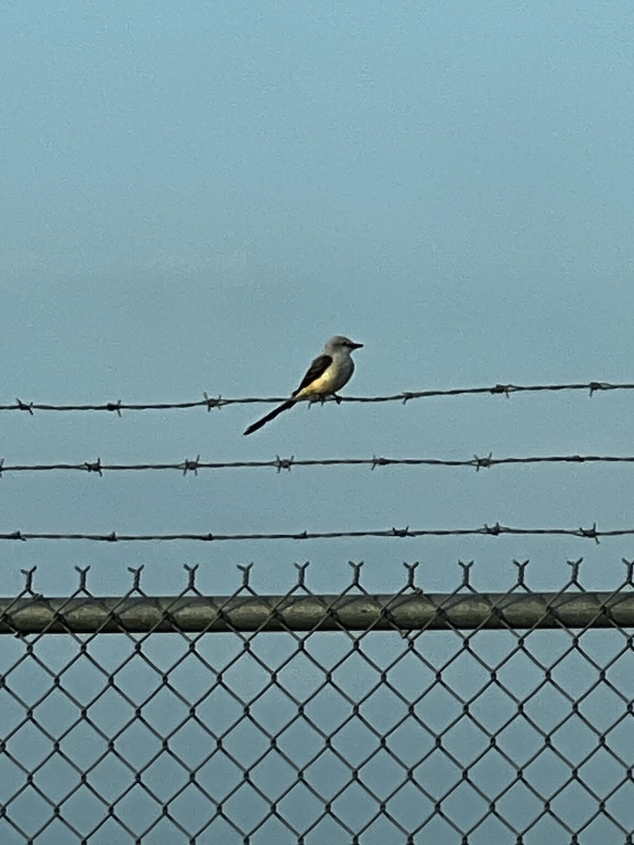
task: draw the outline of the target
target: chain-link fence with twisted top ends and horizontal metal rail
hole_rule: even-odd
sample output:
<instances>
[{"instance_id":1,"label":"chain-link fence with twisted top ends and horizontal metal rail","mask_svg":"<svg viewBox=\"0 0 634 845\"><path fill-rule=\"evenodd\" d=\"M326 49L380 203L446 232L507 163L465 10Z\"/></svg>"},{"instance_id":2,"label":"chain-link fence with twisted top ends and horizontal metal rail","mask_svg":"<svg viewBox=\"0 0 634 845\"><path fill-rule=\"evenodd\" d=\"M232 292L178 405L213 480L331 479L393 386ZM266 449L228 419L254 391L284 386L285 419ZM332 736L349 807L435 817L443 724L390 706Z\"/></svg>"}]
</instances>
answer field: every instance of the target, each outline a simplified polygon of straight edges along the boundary
<instances>
[{"instance_id":1,"label":"chain-link fence with twisted top ends and horizontal metal rail","mask_svg":"<svg viewBox=\"0 0 634 845\"><path fill-rule=\"evenodd\" d=\"M0 599L0 842L622 845L632 564L586 591ZM57 635L56 635L57 634ZM107 635L109 634L109 635Z\"/></svg>"}]
</instances>

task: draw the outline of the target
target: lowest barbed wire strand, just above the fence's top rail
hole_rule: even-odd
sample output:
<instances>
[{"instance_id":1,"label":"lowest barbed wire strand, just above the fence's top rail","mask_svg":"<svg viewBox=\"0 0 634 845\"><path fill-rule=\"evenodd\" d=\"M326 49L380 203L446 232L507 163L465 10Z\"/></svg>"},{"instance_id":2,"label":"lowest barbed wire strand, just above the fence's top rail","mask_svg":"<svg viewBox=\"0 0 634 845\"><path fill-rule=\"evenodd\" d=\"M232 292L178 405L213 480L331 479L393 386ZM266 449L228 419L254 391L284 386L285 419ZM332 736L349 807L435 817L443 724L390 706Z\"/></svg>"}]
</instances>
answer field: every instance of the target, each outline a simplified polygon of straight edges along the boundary
<instances>
[{"instance_id":1,"label":"lowest barbed wire strand, just above the fence's top rail","mask_svg":"<svg viewBox=\"0 0 634 845\"><path fill-rule=\"evenodd\" d=\"M352 537L473 537L474 535L500 537L502 534L547 537L582 537L598 543L599 537L626 537L634 535L634 528L616 528L610 531L600 531L596 522L591 528L513 528L495 525L484 525L480 528L405 528L391 527L374 531L332 531L332 532L280 532L265 534L214 534L207 532L178 533L178 534L82 534L57 532L21 532L14 531L0 533L0 540L90 540L96 542L164 542L187 541L222 542L227 540L331 540Z\"/></svg>"}]
</instances>

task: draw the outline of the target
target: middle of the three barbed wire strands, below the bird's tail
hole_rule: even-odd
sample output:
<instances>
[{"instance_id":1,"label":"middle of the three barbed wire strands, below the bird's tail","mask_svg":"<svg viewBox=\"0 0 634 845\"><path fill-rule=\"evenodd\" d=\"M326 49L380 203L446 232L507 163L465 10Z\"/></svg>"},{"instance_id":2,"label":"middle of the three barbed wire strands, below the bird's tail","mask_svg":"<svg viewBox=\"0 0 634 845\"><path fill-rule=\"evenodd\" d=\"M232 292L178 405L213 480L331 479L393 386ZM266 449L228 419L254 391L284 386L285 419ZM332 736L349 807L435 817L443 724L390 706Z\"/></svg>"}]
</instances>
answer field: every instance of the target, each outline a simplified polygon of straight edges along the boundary
<instances>
[{"instance_id":1,"label":"middle of the three barbed wire strands, below the bird's tail","mask_svg":"<svg viewBox=\"0 0 634 845\"><path fill-rule=\"evenodd\" d=\"M371 458L282 458L276 455L270 461L201 461L200 455L194 459L185 458L184 461L172 463L142 463L142 464L108 464L102 463L101 458L96 461L81 461L79 463L52 464L5 464L0 458L0 477L5 472L92 472L100 477L104 472L150 472L154 470L176 470L187 475L193 472L198 475L199 470L221 469L260 469L269 467L279 474L282 470L291 472L293 466L369 466L374 470L377 466L467 466L478 472L491 466L516 464L583 464L583 463L634 463L634 455L529 455L527 457L494 458L493 453L484 457L473 455L466 460L444 458L384 458L373 455Z\"/></svg>"}]
</instances>

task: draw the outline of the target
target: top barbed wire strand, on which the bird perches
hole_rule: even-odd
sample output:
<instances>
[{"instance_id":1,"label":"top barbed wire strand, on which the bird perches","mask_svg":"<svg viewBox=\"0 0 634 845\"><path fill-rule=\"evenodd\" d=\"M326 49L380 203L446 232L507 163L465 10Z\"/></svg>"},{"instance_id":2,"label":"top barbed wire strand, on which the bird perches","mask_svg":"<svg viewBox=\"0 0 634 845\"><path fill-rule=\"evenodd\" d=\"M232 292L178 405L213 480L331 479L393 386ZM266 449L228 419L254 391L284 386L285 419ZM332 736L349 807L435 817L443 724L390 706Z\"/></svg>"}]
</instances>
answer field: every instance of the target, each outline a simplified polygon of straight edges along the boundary
<instances>
[{"instance_id":1,"label":"top barbed wire strand, on which the bird perches","mask_svg":"<svg viewBox=\"0 0 634 845\"><path fill-rule=\"evenodd\" d=\"M462 396L475 394L489 394L505 395L509 398L511 393L537 393L542 391L556 392L561 390L583 390L587 391L589 395L594 395L599 391L606 390L634 390L634 384L620 383L610 384L604 381L589 381L582 383L571 384L494 384L493 387L467 387L467 388L451 388L450 390L403 390L401 393L392 395L378 395L378 396L325 396L320 399L315 399L316 403L323 401L336 401L337 404L341 402L401 402L406 405L408 401L413 399L431 399L442 396ZM123 402L120 399L117 401L102 402L98 404L81 404L81 405L52 405L36 401L22 401L16 397L12 405L0 405L0 411L25 411L30 416L33 416L36 411L58 411L58 412L73 412L73 411L106 411L113 412L121 417L123 411L173 411L178 409L189 408L206 408L208 412L214 409L221 409L228 405L254 405L257 403L263 404L277 404L285 402L288 396L248 396L243 399L226 399L221 395L213 397L206 392L203 394L203 399L184 402ZM311 403L312 404L312 403Z\"/></svg>"}]
</instances>

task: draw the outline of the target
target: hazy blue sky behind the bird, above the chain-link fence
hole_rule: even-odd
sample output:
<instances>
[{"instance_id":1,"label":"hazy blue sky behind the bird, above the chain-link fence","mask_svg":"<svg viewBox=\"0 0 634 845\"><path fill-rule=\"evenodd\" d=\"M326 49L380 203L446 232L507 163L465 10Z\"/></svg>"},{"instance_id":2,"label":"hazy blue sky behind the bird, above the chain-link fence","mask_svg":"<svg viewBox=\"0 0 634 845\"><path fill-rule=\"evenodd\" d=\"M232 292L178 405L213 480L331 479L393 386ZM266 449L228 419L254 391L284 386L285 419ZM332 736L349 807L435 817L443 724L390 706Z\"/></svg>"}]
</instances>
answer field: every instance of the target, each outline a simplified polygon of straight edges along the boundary
<instances>
[{"instance_id":1,"label":"hazy blue sky behind the bird, above the chain-link fence","mask_svg":"<svg viewBox=\"0 0 634 845\"><path fill-rule=\"evenodd\" d=\"M631 8L609 0L3 4L0 404L287 395L336 333L365 345L349 395L631 382L633 71ZM0 458L631 455L633 400L330 403L294 409L248 439L243 429L263 406L121 418L3 412ZM632 472L4 473L0 532L623 528L634 526ZM2 554L4 595L33 565L36 589L63 595L77 584L74 566L88 564L96 592L126 590L128 567L140 564L148 591L180 591L183 564L199 564L200 589L218 594L238 586L235 566L249 561L256 589L286 591L293 562L304 560L315 591L346 586L349 560L365 561L370 591L399 588L402 562L417 560L418 583L451 590L458 559L475 560L474 586L505 590L514 558L531 559L532 586L557 589L566 559L581 556L584 584L613 589L634 541L2 542ZM9 661L23 647L12 642ZM385 639L368 642L383 649L377 661L388 659ZM425 642L426 653L444 647L440 637ZM58 643L49 643L52 664L68 659ZM114 641L101 659L121 659ZM24 689L40 684L30 671ZM528 671L516 668L514 683ZM471 676L461 677L456 684ZM213 684L206 673L193 679ZM132 683L143 695L140 674ZM116 726L127 716L112 695L105 709ZM581 744L575 730L570 754ZM24 753L33 747L24 739ZM137 738L128 753L144 747ZM25 817L32 811L25 804ZM617 841L607 836L596 841Z\"/></svg>"}]
</instances>

